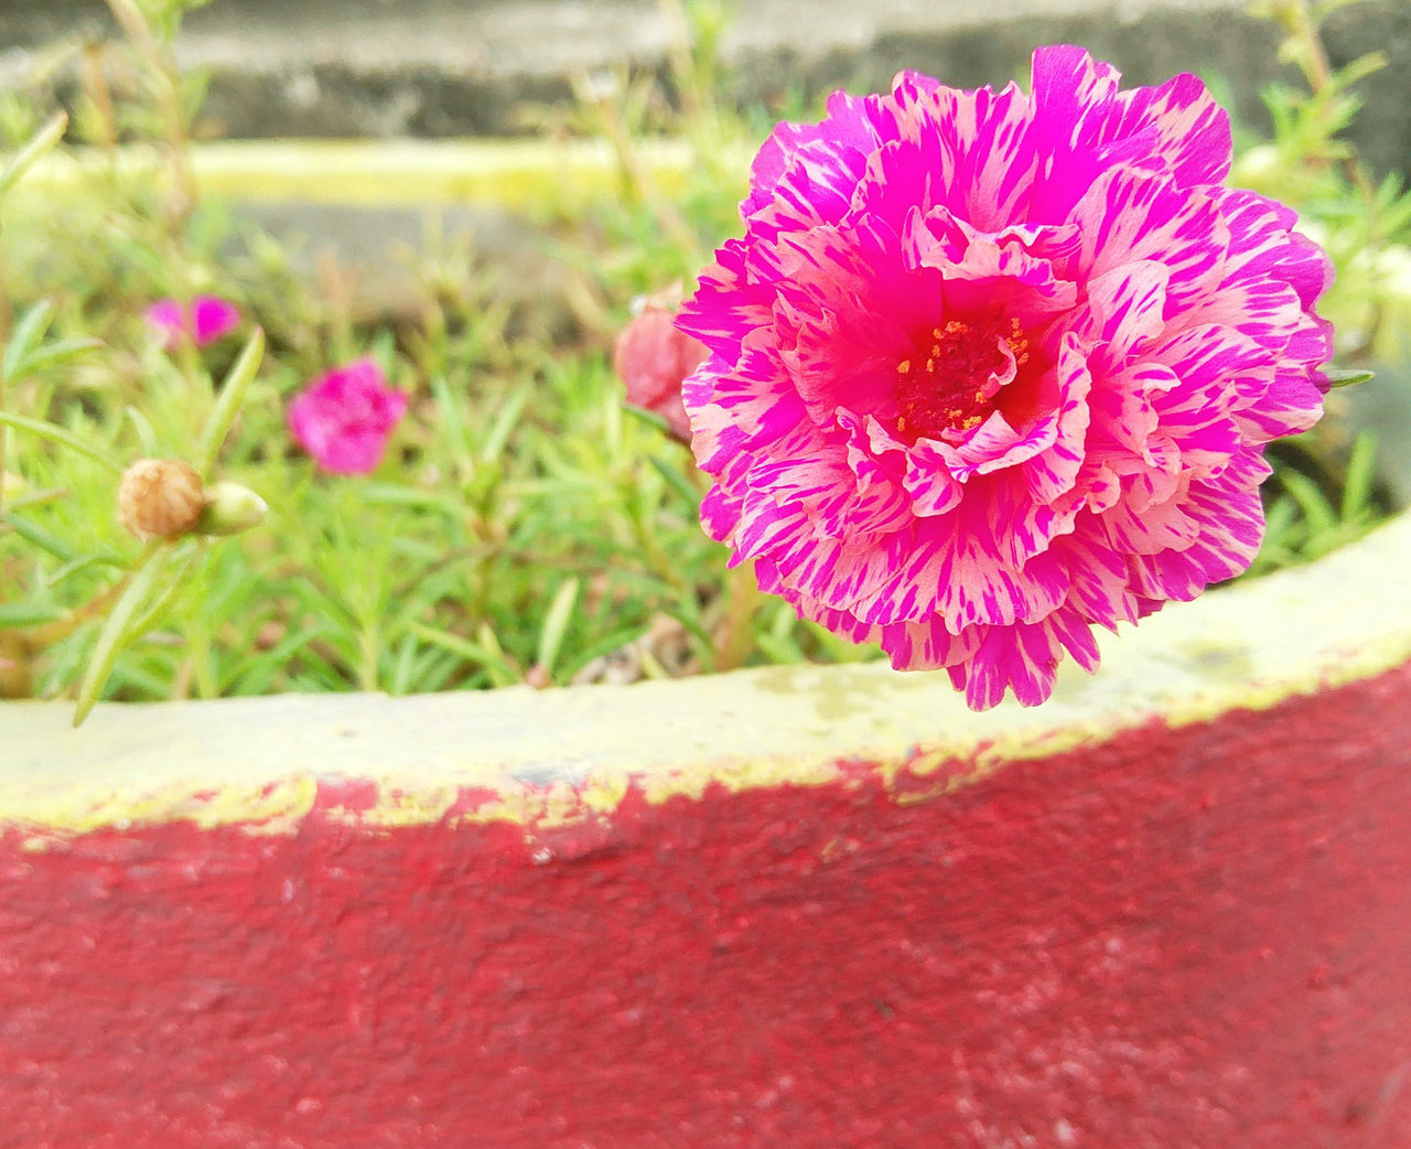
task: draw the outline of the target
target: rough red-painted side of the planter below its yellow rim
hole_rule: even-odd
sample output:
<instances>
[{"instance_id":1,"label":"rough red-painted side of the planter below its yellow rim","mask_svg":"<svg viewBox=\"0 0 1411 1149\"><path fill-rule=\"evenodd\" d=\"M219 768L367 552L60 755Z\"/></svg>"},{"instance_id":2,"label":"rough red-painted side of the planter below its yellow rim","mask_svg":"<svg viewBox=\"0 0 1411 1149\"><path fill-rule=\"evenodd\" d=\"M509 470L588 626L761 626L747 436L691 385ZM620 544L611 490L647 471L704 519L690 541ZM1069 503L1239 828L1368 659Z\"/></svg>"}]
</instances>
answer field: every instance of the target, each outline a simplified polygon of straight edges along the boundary
<instances>
[{"instance_id":1,"label":"rough red-painted side of the planter below its yellow rim","mask_svg":"<svg viewBox=\"0 0 1411 1149\"><path fill-rule=\"evenodd\" d=\"M0 1145L1407 1149L1408 747L1401 668L917 805L10 837Z\"/></svg>"}]
</instances>

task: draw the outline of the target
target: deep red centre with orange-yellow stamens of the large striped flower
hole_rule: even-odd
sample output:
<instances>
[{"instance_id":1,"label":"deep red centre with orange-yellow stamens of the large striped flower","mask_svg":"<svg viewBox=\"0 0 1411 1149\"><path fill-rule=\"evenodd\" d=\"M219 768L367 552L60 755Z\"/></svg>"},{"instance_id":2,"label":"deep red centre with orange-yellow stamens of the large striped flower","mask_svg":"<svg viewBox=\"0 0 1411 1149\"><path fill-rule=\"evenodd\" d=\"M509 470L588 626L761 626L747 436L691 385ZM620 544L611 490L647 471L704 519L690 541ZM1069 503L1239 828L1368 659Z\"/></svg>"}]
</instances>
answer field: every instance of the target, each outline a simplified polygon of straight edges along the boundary
<instances>
[{"instance_id":1,"label":"deep red centre with orange-yellow stamens of the large striped flower","mask_svg":"<svg viewBox=\"0 0 1411 1149\"><path fill-rule=\"evenodd\" d=\"M1006 354L1006 349L1009 354ZM1010 367L1010 356L1013 367ZM952 319L919 339L896 366L896 429L910 442L950 438L985 422L995 397L1029 363L1029 337L1007 323Z\"/></svg>"}]
</instances>

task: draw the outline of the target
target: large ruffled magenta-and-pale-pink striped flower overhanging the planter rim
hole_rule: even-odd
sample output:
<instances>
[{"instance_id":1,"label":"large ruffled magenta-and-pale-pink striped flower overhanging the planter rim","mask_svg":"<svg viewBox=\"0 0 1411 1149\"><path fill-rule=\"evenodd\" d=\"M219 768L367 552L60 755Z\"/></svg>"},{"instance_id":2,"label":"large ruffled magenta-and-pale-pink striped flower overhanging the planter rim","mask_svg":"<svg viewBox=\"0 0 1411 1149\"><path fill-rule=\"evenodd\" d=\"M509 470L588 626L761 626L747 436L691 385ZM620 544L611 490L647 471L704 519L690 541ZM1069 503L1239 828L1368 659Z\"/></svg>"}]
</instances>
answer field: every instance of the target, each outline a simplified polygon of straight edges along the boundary
<instances>
[{"instance_id":1,"label":"large ruffled magenta-and-pale-pink striped flower overhanging the planter rim","mask_svg":"<svg viewBox=\"0 0 1411 1149\"><path fill-rule=\"evenodd\" d=\"M677 320L706 529L975 709L1245 570L1264 443L1322 411L1326 257L1221 186L1198 79L1118 79L1041 48L1031 95L903 73L780 124Z\"/></svg>"}]
</instances>

